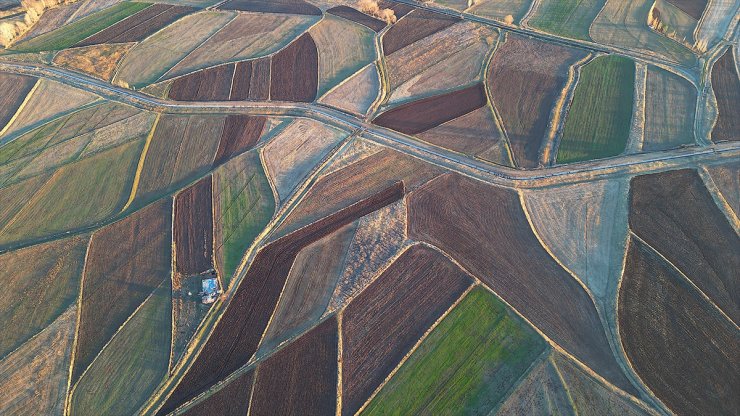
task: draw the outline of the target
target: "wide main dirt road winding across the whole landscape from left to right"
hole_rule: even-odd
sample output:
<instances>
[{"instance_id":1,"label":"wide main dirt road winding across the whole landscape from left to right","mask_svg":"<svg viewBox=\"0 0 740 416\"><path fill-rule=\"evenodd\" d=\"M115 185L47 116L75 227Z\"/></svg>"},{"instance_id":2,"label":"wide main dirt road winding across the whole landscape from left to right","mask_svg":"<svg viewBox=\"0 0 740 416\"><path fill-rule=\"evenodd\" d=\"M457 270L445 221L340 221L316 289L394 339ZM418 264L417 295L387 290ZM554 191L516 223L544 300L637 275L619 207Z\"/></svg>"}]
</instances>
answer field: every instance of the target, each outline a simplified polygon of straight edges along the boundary
<instances>
[{"instance_id":1,"label":"wide main dirt road winding across the whole landscape from left to right","mask_svg":"<svg viewBox=\"0 0 740 416\"><path fill-rule=\"evenodd\" d=\"M424 143L390 129L379 127L349 113L314 103L292 102L208 102L182 103L163 100L108 84L73 71L43 64L0 63L0 71L53 79L112 101L150 111L177 114L248 114L312 118L343 128L362 129L364 137L478 180L505 187L539 188L619 175L644 174L692 166L697 162L716 163L740 157L740 143L718 143L706 147L679 148L652 153L623 155L607 159L561 165L538 170L519 170L491 165L459 153Z\"/></svg>"}]
</instances>

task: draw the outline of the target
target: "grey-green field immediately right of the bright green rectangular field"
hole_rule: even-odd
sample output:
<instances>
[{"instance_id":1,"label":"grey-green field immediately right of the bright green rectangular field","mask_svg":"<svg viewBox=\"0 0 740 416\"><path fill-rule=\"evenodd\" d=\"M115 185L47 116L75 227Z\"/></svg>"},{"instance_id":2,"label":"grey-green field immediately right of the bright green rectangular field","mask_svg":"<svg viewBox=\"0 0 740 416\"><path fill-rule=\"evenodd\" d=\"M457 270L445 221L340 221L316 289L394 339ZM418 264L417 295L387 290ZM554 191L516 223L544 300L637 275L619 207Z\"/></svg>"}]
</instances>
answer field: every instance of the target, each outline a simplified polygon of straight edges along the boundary
<instances>
[{"instance_id":1,"label":"grey-green field immediately right of the bright green rectangular field","mask_svg":"<svg viewBox=\"0 0 740 416\"><path fill-rule=\"evenodd\" d=\"M664 69L648 67L643 151L694 144L696 88Z\"/></svg>"}]
</instances>

